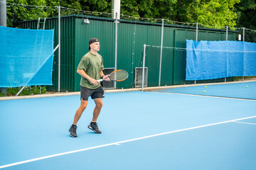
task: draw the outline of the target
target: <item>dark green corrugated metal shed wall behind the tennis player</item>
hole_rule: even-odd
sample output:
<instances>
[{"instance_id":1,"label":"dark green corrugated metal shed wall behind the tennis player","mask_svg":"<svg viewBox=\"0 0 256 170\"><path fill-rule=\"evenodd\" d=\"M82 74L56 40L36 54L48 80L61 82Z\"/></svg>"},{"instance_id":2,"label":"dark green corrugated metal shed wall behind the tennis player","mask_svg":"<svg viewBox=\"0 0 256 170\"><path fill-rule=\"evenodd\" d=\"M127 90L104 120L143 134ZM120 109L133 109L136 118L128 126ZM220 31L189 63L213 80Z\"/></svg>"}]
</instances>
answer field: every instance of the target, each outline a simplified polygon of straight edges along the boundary
<instances>
[{"instance_id":1,"label":"dark green corrugated metal shed wall behind the tennis player","mask_svg":"<svg viewBox=\"0 0 256 170\"><path fill-rule=\"evenodd\" d=\"M88 18L90 23L84 22ZM38 21L20 22L22 28L36 29ZM142 67L143 45L146 47L146 67L148 86L158 86L161 45L161 24L137 21L117 23L117 69L129 73L126 81L117 83L117 89L134 87L135 68ZM42 27L42 25L41 25ZM54 29L54 46L58 45L58 18L47 18L46 29ZM100 55L105 68L114 68L115 22L110 18L92 16L61 17L61 59L60 91L80 91L80 75L76 73L80 59L88 50L88 40L100 40ZM196 28L184 26L164 26L164 40L161 64L161 86L191 84L185 81L186 40L196 40ZM198 40L225 40L225 30L199 28ZM229 33L228 40L235 40L235 33ZM172 48L165 48L172 47ZM174 47L178 48L175 49ZM58 50L53 62L53 86L48 91L58 91Z\"/></svg>"}]
</instances>

